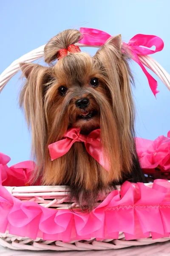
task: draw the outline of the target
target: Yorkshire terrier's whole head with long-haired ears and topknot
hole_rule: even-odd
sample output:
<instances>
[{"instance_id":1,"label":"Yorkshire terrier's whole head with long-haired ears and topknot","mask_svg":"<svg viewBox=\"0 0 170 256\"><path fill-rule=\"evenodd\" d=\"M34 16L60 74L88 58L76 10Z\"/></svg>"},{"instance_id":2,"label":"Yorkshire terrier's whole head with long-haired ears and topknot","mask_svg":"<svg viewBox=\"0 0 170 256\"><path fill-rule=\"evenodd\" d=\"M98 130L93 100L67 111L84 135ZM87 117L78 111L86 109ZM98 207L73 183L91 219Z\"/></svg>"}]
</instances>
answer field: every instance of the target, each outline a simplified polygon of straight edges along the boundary
<instances>
[{"instance_id":1,"label":"Yorkshire terrier's whole head with long-haired ears and topknot","mask_svg":"<svg viewBox=\"0 0 170 256\"><path fill-rule=\"evenodd\" d=\"M48 145L62 139L68 128L80 128L82 134L100 128L112 180L118 181L122 172L130 172L136 155L132 76L126 49L122 49L121 35L117 35L93 57L76 52L56 62L57 52L81 37L79 31L69 29L46 44L45 62L52 67L20 64L27 79L20 105L31 123L33 152L39 166L50 158Z\"/></svg>"}]
</instances>

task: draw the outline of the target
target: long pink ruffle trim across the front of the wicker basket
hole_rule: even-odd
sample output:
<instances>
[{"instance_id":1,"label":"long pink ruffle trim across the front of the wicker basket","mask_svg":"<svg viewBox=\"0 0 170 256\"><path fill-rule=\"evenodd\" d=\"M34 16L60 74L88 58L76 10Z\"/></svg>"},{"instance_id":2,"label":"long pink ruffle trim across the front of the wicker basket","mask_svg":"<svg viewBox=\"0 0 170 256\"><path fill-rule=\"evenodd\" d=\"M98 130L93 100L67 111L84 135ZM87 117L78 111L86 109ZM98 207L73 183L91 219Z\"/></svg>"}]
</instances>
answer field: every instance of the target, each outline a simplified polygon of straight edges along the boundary
<instances>
[{"instance_id":1,"label":"long pink ruffle trim across the front of the wicker basket","mask_svg":"<svg viewBox=\"0 0 170 256\"><path fill-rule=\"evenodd\" d=\"M120 197L121 195L121 197ZM149 195L149 196L148 196ZM170 183L155 180L153 187L125 182L121 192L112 191L91 214L41 207L21 202L0 186L0 232L37 236L45 240L153 239L170 235Z\"/></svg>"}]
</instances>

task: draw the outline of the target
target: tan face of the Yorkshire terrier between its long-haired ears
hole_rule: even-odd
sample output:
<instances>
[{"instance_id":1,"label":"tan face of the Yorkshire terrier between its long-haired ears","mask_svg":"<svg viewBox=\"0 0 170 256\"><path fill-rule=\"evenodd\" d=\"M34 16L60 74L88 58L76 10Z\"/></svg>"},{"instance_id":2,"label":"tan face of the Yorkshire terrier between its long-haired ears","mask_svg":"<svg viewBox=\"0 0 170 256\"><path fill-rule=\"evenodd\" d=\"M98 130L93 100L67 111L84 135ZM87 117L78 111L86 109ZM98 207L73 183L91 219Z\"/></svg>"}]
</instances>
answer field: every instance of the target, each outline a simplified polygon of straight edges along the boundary
<instances>
[{"instance_id":1,"label":"tan face of the Yorkshire terrier between its long-haired ears","mask_svg":"<svg viewBox=\"0 0 170 256\"><path fill-rule=\"evenodd\" d=\"M95 60L84 53L68 55L54 66L53 77L45 94L48 122L61 127L61 136L71 127L80 128L84 134L99 128L101 111L107 111L103 104L111 111L112 102Z\"/></svg>"}]
</instances>

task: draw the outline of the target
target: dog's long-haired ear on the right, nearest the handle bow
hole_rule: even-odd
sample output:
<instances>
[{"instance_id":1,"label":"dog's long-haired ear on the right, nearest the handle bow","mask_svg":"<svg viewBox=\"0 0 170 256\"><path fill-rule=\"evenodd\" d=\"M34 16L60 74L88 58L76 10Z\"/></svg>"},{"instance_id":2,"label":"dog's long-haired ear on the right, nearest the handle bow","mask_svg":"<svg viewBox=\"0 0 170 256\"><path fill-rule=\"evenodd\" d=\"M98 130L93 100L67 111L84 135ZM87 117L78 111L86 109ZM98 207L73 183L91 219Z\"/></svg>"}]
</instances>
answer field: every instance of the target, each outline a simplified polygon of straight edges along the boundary
<instances>
[{"instance_id":1,"label":"dog's long-haired ear on the right, nearest the handle bow","mask_svg":"<svg viewBox=\"0 0 170 256\"><path fill-rule=\"evenodd\" d=\"M128 54L128 49L122 44L121 35L109 38L96 52L96 55L94 55L94 64L99 68L112 100L113 118L115 118L116 124L115 131L112 131L115 134L118 134L117 140L114 140L118 142L121 140L120 147L116 146L116 150L120 149L119 155L121 156L119 160L117 160L117 163L122 161L121 169L126 170L127 172L130 172L132 169L133 156L136 154L133 140L134 102L130 84L132 74L128 65L129 59L130 54ZM102 123L100 126L101 136L105 137L105 143L110 145L113 139L111 139L110 135L103 135L103 133L104 130L107 131L107 129L111 131L111 128L108 127L106 129L106 124L104 127ZM116 158L116 155L117 152L115 151L113 156L115 159L118 159L118 157Z\"/></svg>"}]
</instances>

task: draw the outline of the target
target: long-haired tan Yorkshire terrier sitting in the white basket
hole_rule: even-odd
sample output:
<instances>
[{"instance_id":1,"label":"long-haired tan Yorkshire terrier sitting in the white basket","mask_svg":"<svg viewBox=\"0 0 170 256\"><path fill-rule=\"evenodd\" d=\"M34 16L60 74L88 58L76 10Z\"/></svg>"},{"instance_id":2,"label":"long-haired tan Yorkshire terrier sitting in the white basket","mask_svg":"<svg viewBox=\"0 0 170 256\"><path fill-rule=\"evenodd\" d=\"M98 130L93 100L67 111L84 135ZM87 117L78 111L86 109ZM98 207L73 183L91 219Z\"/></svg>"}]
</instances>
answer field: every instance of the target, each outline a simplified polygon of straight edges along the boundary
<instances>
[{"instance_id":1,"label":"long-haired tan Yorkshire terrier sitting in the white basket","mask_svg":"<svg viewBox=\"0 0 170 256\"><path fill-rule=\"evenodd\" d=\"M26 77L20 107L31 126L37 164L33 183L39 179L42 185L68 185L71 198L82 209L91 210L99 192L126 180L145 182L145 177L134 141L128 49L117 35L91 57L74 46L80 39L81 33L73 29L51 38L44 49L48 67L20 63ZM74 49L69 52L71 45ZM80 128L84 135L100 129L108 171L88 154L83 142L74 143L68 153L51 161L48 145L61 140L70 128Z\"/></svg>"}]
</instances>

